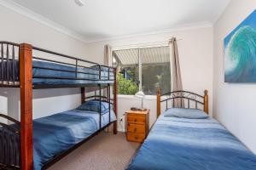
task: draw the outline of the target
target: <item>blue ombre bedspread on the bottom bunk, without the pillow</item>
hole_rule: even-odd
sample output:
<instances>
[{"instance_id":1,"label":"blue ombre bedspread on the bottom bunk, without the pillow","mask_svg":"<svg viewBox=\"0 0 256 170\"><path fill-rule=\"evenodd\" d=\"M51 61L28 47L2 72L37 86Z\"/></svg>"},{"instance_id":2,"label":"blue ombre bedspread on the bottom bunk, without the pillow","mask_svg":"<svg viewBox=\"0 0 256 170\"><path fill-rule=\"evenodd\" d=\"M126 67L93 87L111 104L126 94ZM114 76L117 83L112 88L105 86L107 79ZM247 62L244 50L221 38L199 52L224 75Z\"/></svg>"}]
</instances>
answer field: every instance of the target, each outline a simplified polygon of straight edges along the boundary
<instances>
[{"instance_id":1,"label":"blue ombre bedspread on the bottom bunk, without the pillow","mask_svg":"<svg viewBox=\"0 0 256 170\"><path fill-rule=\"evenodd\" d=\"M116 117L111 111L113 122ZM102 115L102 127L109 114ZM39 170L53 156L86 139L99 129L99 114L92 111L72 110L33 121L34 170Z\"/></svg>"}]
</instances>

